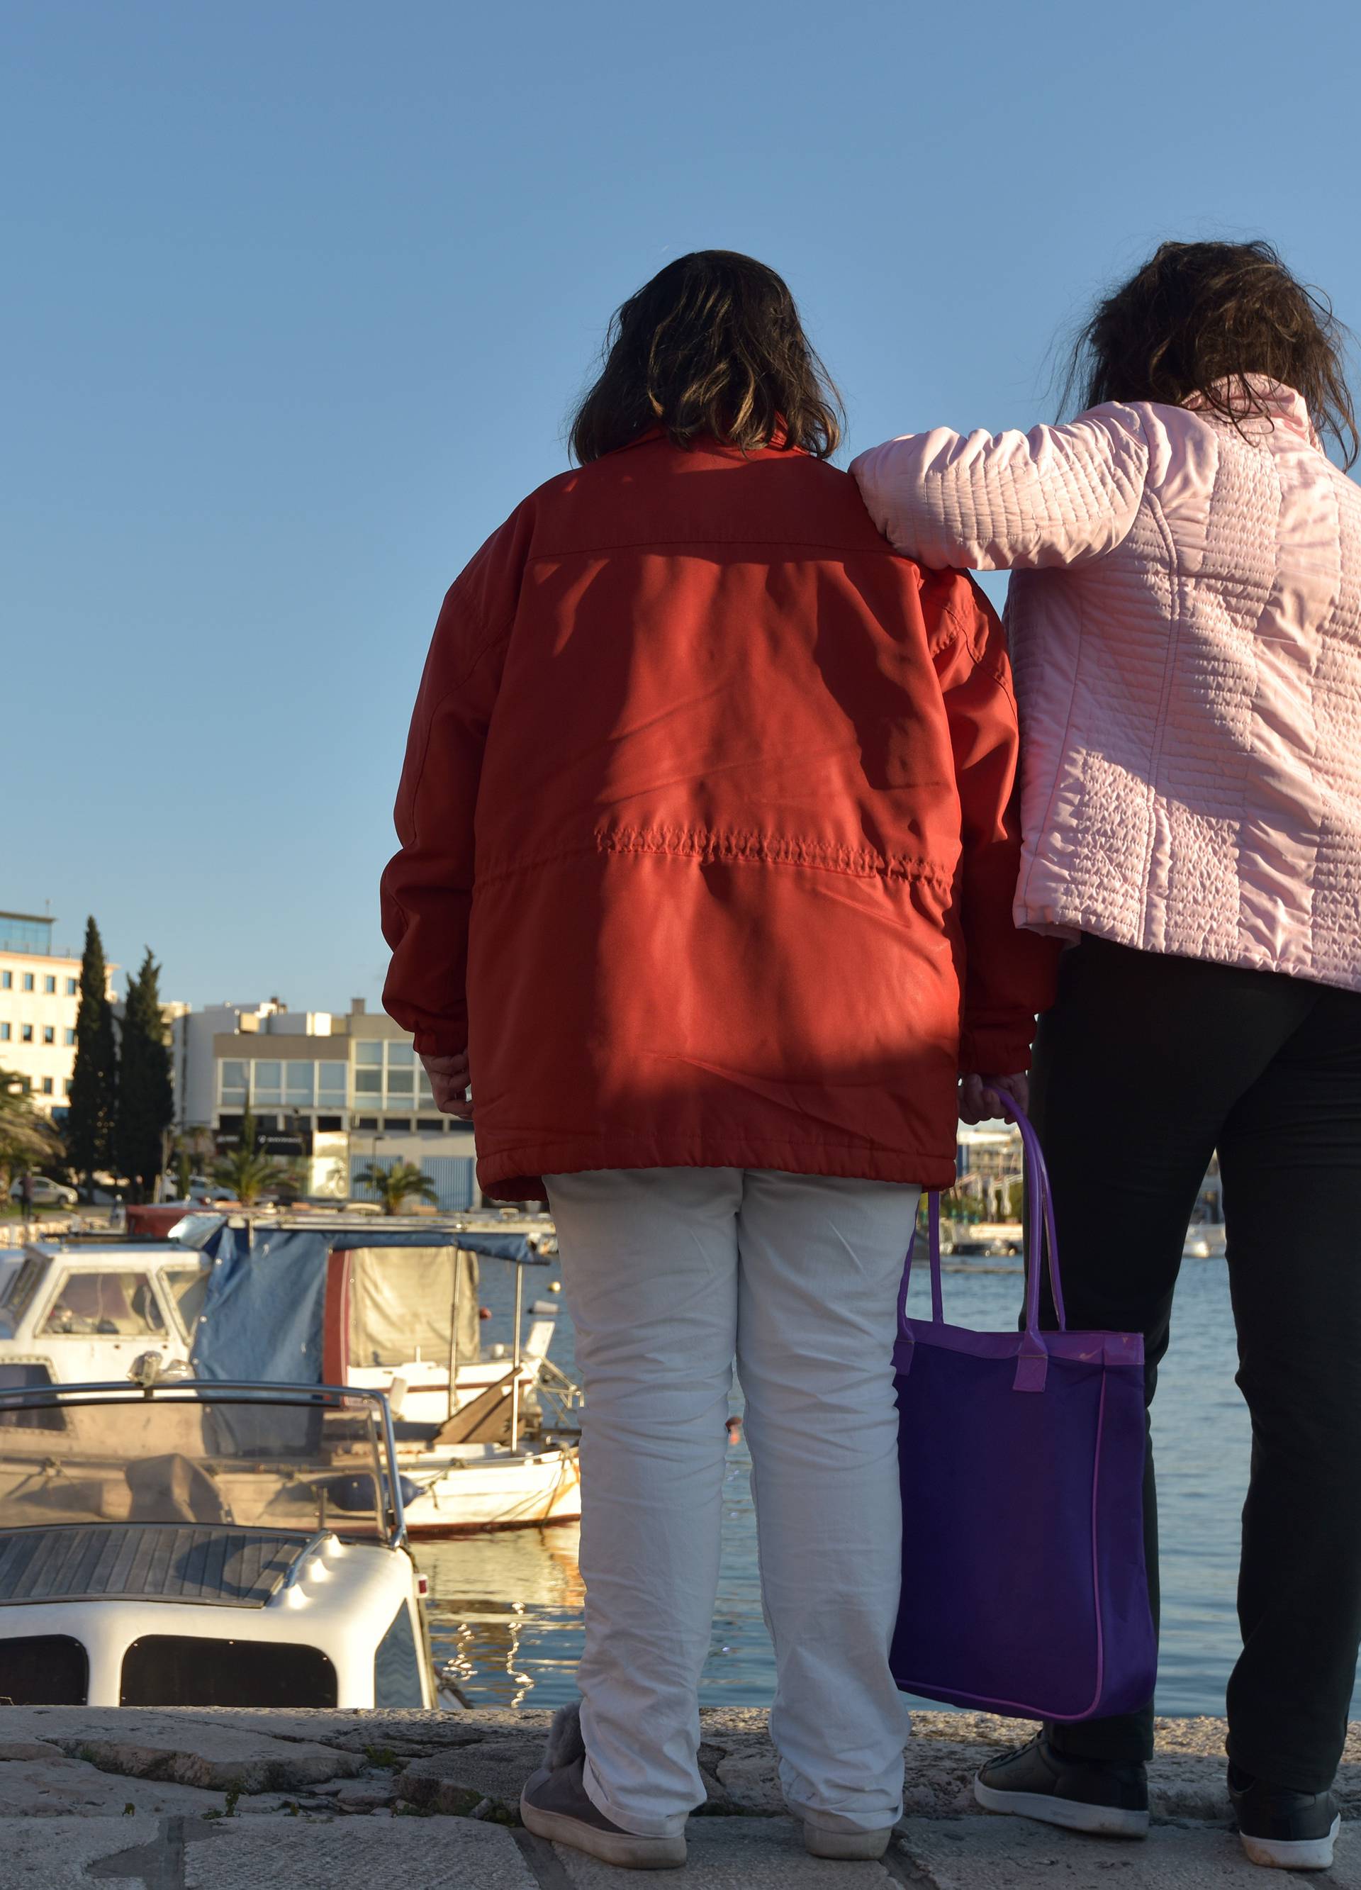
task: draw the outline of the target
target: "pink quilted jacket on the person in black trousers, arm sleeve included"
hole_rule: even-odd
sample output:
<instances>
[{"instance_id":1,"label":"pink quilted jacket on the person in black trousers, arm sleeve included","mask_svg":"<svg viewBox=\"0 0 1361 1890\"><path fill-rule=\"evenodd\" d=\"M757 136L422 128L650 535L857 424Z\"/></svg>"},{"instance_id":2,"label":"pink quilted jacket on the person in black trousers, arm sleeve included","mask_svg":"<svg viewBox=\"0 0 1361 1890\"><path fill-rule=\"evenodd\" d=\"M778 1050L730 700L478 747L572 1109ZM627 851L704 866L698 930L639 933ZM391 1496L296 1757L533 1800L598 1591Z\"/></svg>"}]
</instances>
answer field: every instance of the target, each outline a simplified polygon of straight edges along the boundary
<instances>
[{"instance_id":1,"label":"pink quilted jacket on the person in black trousers, arm sleeve included","mask_svg":"<svg viewBox=\"0 0 1361 1890\"><path fill-rule=\"evenodd\" d=\"M1013 571L1015 917L1361 988L1361 488L1304 401L1096 406L851 471L924 565Z\"/></svg>"}]
</instances>

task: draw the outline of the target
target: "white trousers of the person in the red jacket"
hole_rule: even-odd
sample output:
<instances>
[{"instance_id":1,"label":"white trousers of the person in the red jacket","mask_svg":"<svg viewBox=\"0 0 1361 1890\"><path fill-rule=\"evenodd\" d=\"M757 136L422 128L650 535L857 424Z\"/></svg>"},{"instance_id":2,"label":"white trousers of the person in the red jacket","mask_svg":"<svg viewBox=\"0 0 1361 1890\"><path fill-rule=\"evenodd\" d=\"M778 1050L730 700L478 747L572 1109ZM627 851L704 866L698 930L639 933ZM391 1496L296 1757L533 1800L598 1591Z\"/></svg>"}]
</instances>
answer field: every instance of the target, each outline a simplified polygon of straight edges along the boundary
<instances>
[{"instance_id":1,"label":"white trousers of the person in the red jacket","mask_svg":"<svg viewBox=\"0 0 1361 1890\"><path fill-rule=\"evenodd\" d=\"M718 1589L733 1359L771 1737L798 1816L902 1814L888 1675L902 1578L894 1306L917 1189L743 1168L548 1176L586 1389L586 1790L639 1837L703 1803L699 1669Z\"/></svg>"}]
</instances>

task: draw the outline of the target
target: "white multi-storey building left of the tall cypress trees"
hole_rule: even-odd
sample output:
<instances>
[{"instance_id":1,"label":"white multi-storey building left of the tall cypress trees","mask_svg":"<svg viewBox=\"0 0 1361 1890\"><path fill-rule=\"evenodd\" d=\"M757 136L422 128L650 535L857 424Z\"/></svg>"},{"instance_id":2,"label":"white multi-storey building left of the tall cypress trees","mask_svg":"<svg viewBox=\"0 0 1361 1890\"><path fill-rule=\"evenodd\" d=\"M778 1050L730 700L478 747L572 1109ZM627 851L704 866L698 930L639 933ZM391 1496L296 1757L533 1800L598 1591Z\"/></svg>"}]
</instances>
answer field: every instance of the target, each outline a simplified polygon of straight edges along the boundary
<instances>
[{"instance_id":1,"label":"white multi-storey building left of the tall cypress trees","mask_svg":"<svg viewBox=\"0 0 1361 1890\"><path fill-rule=\"evenodd\" d=\"M76 1068L81 960L53 947L55 924L0 913L0 1068L21 1075L34 1104L60 1123Z\"/></svg>"}]
</instances>

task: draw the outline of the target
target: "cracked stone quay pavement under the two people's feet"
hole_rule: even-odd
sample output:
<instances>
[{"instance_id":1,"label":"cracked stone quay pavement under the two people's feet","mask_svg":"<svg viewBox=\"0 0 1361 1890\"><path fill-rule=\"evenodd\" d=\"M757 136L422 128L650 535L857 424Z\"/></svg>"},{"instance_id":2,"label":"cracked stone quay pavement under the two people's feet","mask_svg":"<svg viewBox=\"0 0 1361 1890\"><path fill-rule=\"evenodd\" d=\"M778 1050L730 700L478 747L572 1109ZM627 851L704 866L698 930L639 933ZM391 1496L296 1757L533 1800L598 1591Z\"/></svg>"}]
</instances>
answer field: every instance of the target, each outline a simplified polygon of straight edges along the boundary
<instances>
[{"instance_id":1,"label":"cracked stone quay pavement under the two people's feet","mask_svg":"<svg viewBox=\"0 0 1361 1890\"><path fill-rule=\"evenodd\" d=\"M0 1709L0 1890L611 1890L631 1871L518 1828L546 1712ZM1219 1720L1159 1722L1147 1843L991 1818L977 1765L1021 1722L915 1716L883 1864L809 1858L784 1814L764 1712L705 1712L705 1811L686 1890L1217 1890L1257 1884L1223 1786ZM1338 1780L1361 1820L1361 1727ZM1270 1879L1266 1879L1270 1882ZM1361 1890L1361 1828L1335 1890Z\"/></svg>"}]
</instances>

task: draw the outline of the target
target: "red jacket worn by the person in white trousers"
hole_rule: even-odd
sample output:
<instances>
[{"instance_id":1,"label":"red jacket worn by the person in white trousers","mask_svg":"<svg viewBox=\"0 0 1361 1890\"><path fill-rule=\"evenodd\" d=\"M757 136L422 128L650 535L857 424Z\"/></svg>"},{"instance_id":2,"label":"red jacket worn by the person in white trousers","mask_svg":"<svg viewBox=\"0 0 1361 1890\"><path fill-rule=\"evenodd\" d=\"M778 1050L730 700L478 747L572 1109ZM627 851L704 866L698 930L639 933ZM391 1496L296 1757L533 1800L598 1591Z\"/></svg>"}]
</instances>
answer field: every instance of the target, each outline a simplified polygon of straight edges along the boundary
<instances>
[{"instance_id":1,"label":"red jacket worn by the person in white trousers","mask_svg":"<svg viewBox=\"0 0 1361 1890\"><path fill-rule=\"evenodd\" d=\"M1028 1068L1002 626L807 454L646 435L541 486L435 627L388 1011L469 1049L478 1177L945 1187L960 1068Z\"/></svg>"}]
</instances>

